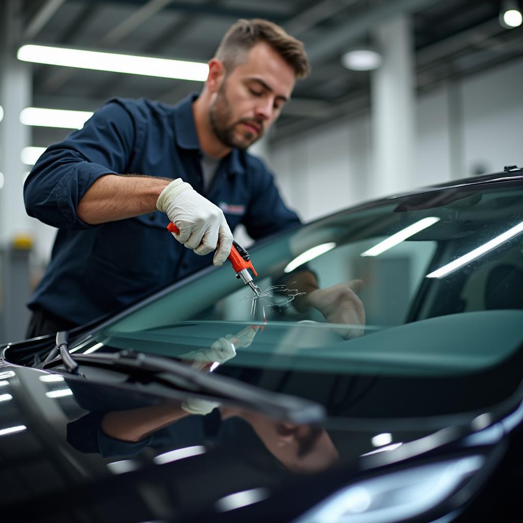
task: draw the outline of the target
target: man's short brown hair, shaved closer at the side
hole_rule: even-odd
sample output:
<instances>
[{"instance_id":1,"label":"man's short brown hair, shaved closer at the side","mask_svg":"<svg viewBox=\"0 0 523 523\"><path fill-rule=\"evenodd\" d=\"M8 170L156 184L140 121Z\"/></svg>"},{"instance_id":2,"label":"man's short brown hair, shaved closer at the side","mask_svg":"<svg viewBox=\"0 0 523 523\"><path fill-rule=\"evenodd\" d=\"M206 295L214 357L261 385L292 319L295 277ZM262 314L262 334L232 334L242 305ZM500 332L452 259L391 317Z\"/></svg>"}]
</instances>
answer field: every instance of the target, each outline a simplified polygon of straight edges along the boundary
<instances>
[{"instance_id":1,"label":"man's short brown hair, shaved closer at the side","mask_svg":"<svg viewBox=\"0 0 523 523\"><path fill-rule=\"evenodd\" d=\"M311 66L303 42L288 35L280 26L261 18L236 21L222 38L215 57L230 72L242 63L245 54L258 42L268 43L292 67L297 78L304 78L310 73Z\"/></svg>"}]
</instances>

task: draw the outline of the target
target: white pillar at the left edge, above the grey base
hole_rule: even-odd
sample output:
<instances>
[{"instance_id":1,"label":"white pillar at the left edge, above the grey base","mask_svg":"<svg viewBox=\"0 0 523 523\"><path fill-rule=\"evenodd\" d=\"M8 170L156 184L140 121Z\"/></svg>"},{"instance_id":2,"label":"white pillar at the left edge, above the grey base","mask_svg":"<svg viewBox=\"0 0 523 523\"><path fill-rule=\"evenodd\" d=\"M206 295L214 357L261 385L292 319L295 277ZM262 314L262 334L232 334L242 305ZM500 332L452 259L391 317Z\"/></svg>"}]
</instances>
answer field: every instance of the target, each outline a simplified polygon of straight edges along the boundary
<instances>
[{"instance_id":1,"label":"white pillar at the left edge, above the grey base","mask_svg":"<svg viewBox=\"0 0 523 523\"><path fill-rule=\"evenodd\" d=\"M24 173L29 167L22 164L20 152L30 145L31 129L20 123L20 111L31 105L32 76L31 66L16 59L22 7L18 0L0 3L0 105L4 109L0 122L0 172L4 174L4 186L0 189L0 246L30 232L22 199Z\"/></svg>"}]
</instances>

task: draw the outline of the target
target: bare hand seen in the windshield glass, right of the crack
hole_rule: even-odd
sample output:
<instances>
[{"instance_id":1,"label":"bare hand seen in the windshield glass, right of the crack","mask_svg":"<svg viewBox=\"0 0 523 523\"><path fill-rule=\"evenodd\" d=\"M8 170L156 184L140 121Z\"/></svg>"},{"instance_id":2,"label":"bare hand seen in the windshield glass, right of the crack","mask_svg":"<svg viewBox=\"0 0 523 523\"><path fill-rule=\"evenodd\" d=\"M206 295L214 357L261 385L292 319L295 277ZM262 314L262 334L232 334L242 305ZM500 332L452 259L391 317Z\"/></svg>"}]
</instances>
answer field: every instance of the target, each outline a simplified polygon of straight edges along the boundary
<instances>
[{"instance_id":1,"label":"bare hand seen in the windshield glass, right of the crack","mask_svg":"<svg viewBox=\"0 0 523 523\"><path fill-rule=\"evenodd\" d=\"M356 295L362 286L361 280L351 280L326 289L315 290L306 296L309 303L319 310L329 323L361 325L361 329L340 333L344 337L353 338L361 336L365 326L365 309Z\"/></svg>"}]
</instances>

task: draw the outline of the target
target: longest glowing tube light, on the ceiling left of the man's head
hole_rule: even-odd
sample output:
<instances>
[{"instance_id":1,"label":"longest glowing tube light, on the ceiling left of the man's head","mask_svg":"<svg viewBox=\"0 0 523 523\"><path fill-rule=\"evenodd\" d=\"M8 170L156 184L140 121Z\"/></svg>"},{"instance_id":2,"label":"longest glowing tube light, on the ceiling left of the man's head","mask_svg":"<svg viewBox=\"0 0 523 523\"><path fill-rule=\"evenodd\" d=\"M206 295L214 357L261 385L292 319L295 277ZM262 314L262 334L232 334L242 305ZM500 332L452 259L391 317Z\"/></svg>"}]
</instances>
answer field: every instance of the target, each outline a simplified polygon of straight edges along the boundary
<instances>
[{"instance_id":1,"label":"longest glowing tube light, on the ceiling left of the man's head","mask_svg":"<svg viewBox=\"0 0 523 523\"><path fill-rule=\"evenodd\" d=\"M202 62L185 62L150 56L133 56L130 54L85 51L61 47L36 46L27 44L20 47L18 60L79 69L111 71L115 73L140 74L204 82L209 67Z\"/></svg>"}]
</instances>

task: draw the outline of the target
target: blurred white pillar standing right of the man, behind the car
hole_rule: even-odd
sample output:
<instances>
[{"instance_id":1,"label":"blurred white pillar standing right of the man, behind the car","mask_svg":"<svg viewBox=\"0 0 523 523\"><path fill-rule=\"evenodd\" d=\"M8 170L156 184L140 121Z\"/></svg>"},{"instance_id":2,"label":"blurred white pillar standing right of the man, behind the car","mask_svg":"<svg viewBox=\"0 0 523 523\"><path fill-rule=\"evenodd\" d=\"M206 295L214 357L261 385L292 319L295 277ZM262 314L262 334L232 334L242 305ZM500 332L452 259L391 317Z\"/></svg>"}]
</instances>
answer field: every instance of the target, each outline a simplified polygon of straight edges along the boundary
<instances>
[{"instance_id":1,"label":"blurred white pillar standing right of the man, behind the car","mask_svg":"<svg viewBox=\"0 0 523 523\"><path fill-rule=\"evenodd\" d=\"M399 14L374 30L383 63L371 77L372 196L419 185L415 177L415 71L411 22Z\"/></svg>"}]
</instances>

